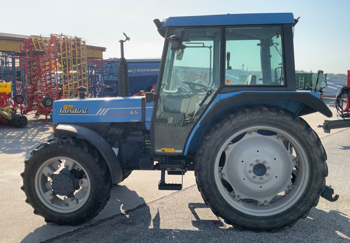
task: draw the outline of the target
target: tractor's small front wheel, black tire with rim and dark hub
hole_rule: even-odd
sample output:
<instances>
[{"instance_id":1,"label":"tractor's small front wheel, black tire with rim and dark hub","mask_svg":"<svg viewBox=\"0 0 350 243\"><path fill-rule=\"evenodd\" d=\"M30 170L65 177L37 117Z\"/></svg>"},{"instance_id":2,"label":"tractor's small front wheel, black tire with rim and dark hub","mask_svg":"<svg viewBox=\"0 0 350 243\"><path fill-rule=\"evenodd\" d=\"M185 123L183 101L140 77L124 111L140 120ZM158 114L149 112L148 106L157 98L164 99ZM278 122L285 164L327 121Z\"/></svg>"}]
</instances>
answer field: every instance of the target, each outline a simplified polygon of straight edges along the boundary
<instances>
[{"instance_id":1,"label":"tractor's small front wheel, black tire with rim and dark hub","mask_svg":"<svg viewBox=\"0 0 350 243\"><path fill-rule=\"evenodd\" d=\"M46 222L77 225L106 205L111 176L97 150L86 141L54 138L31 152L21 173L26 202Z\"/></svg>"}]
</instances>

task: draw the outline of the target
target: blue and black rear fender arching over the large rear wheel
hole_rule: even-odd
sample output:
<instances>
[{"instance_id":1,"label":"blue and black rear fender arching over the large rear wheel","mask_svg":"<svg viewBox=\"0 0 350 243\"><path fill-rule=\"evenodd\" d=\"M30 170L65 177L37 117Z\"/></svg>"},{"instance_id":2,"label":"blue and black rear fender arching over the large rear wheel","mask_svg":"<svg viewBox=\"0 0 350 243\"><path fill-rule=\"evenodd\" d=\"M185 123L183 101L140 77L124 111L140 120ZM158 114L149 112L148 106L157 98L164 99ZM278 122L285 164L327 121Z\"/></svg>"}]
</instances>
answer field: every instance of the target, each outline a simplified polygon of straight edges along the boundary
<instances>
[{"instance_id":1,"label":"blue and black rear fender arching over the large rear wheel","mask_svg":"<svg viewBox=\"0 0 350 243\"><path fill-rule=\"evenodd\" d=\"M332 112L320 98L320 95L320 93L310 91L236 91L220 93L191 132L185 146L184 155L187 154L188 150L197 148L204 132L214 120L243 105L275 105L289 110L297 116L320 112L326 117L332 117Z\"/></svg>"}]
</instances>

